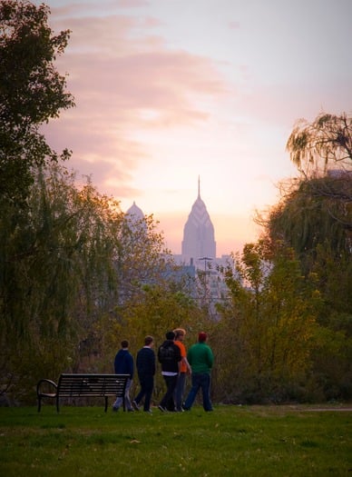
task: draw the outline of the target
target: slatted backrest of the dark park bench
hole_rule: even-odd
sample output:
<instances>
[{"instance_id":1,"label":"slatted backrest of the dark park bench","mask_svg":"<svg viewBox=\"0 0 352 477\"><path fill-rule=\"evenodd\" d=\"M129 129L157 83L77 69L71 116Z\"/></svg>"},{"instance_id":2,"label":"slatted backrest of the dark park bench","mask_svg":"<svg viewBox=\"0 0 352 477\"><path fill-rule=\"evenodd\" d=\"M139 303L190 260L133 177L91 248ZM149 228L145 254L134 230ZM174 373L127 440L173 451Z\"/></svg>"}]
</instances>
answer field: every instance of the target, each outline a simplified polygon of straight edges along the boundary
<instances>
[{"instance_id":1,"label":"slatted backrest of the dark park bench","mask_svg":"<svg viewBox=\"0 0 352 477\"><path fill-rule=\"evenodd\" d=\"M129 374L61 374L57 393L73 396L123 396Z\"/></svg>"}]
</instances>

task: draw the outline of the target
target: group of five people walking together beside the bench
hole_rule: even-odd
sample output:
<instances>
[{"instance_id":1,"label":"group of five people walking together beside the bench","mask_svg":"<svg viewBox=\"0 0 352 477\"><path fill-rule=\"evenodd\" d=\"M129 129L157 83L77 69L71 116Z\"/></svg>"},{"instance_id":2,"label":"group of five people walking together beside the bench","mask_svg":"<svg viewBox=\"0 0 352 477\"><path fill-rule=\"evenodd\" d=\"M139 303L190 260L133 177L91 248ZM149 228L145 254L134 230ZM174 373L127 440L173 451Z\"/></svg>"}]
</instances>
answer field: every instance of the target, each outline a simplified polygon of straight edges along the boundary
<instances>
[{"instance_id":1,"label":"group of five people walking together beside the bench","mask_svg":"<svg viewBox=\"0 0 352 477\"><path fill-rule=\"evenodd\" d=\"M161 363L161 375L166 384L166 392L162 396L158 408L161 412L190 411L201 389L204 411L212 411L210 401L210 372L214 363L214 356L210 346L206 343L207 333L200 332L198 342L191 345L188 353L183 344L185 330L177 328L166 333L165 341L159 346L157 354L152 349L152 336L144 338L144 346L136 356L136 370L140 382L140 392L131 401L134 362L129 352L129 343L123 340L121 350L116 354L114 370L116 374L129 374L126 384L125 405L127 411L140 411L143 400L143 411L152 413L152 391L156 372L156 357ZM191 390L183 402L183 394L187 373L191 376ZM113 411L118 411L122 405L122 398L117 398L112 405Z\"/></svg>"}]
</instances>

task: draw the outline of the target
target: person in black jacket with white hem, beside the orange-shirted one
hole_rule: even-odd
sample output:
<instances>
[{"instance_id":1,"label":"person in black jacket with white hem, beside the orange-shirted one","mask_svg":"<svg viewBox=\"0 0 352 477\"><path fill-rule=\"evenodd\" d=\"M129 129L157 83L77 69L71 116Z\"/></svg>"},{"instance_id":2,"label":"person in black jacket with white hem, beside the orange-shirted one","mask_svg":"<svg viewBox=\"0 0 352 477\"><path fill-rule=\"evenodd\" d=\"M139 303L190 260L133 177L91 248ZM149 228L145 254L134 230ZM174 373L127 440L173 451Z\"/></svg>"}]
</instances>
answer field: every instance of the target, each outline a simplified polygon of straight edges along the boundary
<instances>
[{"instance_id":1,"label":"person in black jacket with white hem, beside the orange-shirted one","mask_svg":"<svg viewBox=\"0 0 352 477\"><path fill-rule=\"evenodd\" d=\"M158 350L158 360L161 363L161 374L165 380L167 388L166 393L158 406L161 412L175 411L173 393L180 373L181 351L174 341L175 333L166 333L166 341L161 344Z\"/></svg>"}]
</instances>

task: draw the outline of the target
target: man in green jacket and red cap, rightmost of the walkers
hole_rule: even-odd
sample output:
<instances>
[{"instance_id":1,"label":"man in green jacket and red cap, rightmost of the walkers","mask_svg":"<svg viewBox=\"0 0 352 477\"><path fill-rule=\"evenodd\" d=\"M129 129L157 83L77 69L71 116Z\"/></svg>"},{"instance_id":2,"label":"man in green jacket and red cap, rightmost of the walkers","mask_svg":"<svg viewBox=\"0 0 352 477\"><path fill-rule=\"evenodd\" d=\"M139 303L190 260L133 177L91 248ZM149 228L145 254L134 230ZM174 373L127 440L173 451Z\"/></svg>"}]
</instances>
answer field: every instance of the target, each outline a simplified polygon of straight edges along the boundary
<instances>
[{"instance_id":1,"label":"man in green jacket and red cap, rightmost of the walkers","mask_svg":"<svg viewBox=\"0 0 352 477\"><path fill-rule=\"evenodd\" d=\"M207 333L200 332L198 335L198 343L192 344L187 353L187 360L191 364L192 375L191 391L183 404L185 411L190 411L200 388L203 396L204 411L212 411L210 401L210 372L214 363L214 355L210 346L206 343L207 338Z\"/></svg>"}]
</instances>

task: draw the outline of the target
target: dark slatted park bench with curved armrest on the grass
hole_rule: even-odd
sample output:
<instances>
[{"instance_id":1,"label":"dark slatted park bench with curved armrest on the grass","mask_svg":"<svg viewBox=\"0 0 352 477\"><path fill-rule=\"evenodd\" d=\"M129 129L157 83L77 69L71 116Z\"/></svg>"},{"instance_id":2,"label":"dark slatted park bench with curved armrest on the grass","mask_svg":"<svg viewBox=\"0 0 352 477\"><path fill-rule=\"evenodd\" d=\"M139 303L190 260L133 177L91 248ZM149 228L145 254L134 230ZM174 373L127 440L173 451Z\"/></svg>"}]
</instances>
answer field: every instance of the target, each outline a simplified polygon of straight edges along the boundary
<instances>
[{"instance_id":1,"label":"dark slatted park bench with curved armrest on the grass","mask_svg":"<svg viewBox=\"0 0 352 477\"><path fill-rule=\"evenodd\" d=\"M103 397L105 412L108 408L108 397L122 397L125 408L124 393L129 374L61 374L58 383L49 379L41 379L36 385L38 412L42 407L42 399L55 399L56 411L59 412L60 398Z\"/></svg>"}]
</instances>

